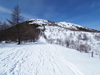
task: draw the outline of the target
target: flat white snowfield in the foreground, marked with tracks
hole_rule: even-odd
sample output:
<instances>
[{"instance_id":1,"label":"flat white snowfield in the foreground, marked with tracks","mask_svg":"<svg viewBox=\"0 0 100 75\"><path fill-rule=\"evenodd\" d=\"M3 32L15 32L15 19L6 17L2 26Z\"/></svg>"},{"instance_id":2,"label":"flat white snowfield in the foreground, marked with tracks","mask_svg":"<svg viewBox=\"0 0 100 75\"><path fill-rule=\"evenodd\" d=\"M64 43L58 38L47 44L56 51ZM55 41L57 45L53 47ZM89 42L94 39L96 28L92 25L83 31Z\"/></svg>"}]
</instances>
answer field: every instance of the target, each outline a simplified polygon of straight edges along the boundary
<instances>
[{"instance_id":1,"label":"flat white snowfield in the foreground, marked with tracks","mask_svg":"<svg viewBox=\"0 0 100 75\"><path fill-rule=\"evenodd\" d=\"M100 75L100 58L42 42L0 44L0 75Z\"/></svg>"}]
</instances>

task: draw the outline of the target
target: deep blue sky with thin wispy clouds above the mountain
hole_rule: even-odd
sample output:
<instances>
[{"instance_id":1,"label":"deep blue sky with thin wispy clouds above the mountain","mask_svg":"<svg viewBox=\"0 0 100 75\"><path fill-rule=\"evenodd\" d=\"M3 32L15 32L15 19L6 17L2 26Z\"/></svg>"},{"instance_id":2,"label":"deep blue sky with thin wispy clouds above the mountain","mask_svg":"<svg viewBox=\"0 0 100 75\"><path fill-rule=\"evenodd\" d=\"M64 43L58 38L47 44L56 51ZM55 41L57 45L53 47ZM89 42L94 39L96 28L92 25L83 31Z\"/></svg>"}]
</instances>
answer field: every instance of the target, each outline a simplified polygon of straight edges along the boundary
<instances>
[{"instance_id":1,"label":"deep blue sky with thin wispy clouds above the mountain","mask_svg":"<svg viewBox=\"0 0 100 75\"><path fill-rule=\"evenodd\" d=\"M20 5L25 20L66 21L100 30L100 0L0 0L0 20Z\"/></svg>"}]
</instances>

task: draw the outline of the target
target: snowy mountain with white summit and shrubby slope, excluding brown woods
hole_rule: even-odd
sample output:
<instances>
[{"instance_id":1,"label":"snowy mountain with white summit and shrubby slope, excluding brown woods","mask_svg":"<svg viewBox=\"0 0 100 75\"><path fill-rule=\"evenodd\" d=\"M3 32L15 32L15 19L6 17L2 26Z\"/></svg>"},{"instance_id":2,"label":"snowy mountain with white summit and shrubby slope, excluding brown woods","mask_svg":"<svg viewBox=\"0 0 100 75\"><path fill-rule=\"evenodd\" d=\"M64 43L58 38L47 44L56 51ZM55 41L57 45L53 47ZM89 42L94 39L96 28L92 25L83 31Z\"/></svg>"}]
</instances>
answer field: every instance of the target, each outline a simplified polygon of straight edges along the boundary
<instances>
[{"instance_id":1,"label":"snowy mountain with white summit and shrubby slope, excluding brown woods","mask_svg":"<svg viewBox=\"0 0 100 75\"><path fill-rule=\"evenodd\" d=\"M52 22L43 19L31 19L29 24L38 24L44 28L47 42L59 44L80 52L100 53L100 31L85 28L68 22Z\"/></svg>"}]
</instances>

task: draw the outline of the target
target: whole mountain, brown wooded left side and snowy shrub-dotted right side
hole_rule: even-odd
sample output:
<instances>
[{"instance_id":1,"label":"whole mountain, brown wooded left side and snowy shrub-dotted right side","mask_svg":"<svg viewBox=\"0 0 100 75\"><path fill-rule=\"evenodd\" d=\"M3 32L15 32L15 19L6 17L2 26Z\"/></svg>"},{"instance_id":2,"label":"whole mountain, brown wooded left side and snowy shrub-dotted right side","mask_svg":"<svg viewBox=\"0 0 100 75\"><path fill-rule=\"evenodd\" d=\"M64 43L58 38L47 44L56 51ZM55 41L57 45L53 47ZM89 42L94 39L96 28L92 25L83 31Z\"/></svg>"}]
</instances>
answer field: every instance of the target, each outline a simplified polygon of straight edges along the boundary
<instances>
[{"instance_id":1,"label":"whole mountain, brown wooded left side and snowy shrub-dotted right side","mask_svg":"<svg viewBox=\"0 0 100 75\"><path fill-rule=\"evenodd\" d=\"M30 19L20 23L21 42L35 42L43 36L48 43L62 45L80 52L100 54L100 31L68 22ZM0 31L0 41L17 42L16 26Z\"/></svg>"}]
</instances>

